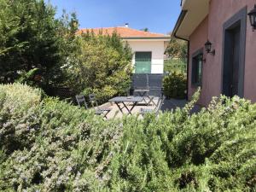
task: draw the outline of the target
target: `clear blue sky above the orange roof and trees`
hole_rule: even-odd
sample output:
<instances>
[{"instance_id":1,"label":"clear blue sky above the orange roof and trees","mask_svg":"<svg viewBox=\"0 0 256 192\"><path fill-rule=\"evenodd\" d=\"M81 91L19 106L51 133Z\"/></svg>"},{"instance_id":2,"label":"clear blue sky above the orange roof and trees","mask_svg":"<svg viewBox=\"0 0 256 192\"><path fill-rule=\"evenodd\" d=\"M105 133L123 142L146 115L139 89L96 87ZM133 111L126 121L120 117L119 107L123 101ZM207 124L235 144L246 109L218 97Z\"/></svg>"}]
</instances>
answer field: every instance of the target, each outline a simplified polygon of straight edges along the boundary
<instances>
[{"instance_id":1,"label":"clear blue sky above the orange roof and trees","mask_svg":"<svg viewBox=\"0 0 256 192\"><path fill-rule=\"evenodd\" d=\"M75 11L80 28L124 26L148 27L150 32L171 32L180 13L180 0L50 0L67 13Z\"/></svg>"}]
</instances>

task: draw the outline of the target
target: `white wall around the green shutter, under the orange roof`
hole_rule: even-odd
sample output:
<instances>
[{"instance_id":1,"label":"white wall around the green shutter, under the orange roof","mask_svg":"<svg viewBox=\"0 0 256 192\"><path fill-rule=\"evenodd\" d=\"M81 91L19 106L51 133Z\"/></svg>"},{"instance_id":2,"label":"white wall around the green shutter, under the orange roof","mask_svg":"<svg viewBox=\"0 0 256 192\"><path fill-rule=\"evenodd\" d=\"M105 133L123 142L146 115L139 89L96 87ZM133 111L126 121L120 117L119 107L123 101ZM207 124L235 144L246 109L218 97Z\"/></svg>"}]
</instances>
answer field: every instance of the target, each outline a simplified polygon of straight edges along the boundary
<instances>
[{"instance_id":1,"label":"white wall around the green shutter, under the orange roof","mask_svg":"<svg viewBox=\"0 0 256 192\"><path fill-rule=\"evenodd\" d=\"M164 41L127 41L130 44L132 51L150 51L152 52L151 73L164 73ZM135 65L135 55L132 59L133 66Z\"/></svg>"}]
</instances>

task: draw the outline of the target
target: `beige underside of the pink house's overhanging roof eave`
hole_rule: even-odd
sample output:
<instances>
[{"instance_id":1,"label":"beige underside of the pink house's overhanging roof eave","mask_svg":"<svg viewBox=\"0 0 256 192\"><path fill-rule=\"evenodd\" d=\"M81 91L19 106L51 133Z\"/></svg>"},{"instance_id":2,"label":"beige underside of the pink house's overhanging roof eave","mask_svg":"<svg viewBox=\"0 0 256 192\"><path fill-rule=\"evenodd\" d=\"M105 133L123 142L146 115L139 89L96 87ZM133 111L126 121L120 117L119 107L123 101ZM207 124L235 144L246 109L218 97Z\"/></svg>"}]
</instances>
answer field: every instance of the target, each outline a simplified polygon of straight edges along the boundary
<instances>
[{"instance_id":1,"label":"beige underside of the pink house's overhanging roof eave","mask_svg":"<svg viewBox=\"0 0 256 192\"><path fill-rule=\"evenodd\" d=\"M172 36L189 40L189 36L201 24L209 12L210 0L182 0L182 11L178 17Z\"/></svg>"}]
</instances>

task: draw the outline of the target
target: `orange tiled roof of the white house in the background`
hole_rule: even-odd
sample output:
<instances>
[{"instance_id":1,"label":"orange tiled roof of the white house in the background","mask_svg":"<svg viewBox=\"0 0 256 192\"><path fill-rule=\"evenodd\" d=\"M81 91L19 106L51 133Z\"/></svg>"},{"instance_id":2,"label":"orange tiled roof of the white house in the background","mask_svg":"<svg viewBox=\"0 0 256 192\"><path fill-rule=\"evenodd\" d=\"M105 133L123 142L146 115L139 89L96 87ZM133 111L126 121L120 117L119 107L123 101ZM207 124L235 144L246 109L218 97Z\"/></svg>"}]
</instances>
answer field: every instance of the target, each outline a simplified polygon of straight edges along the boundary
<instances>
[{"instance_id":1,"label":"orange tiled roof of the white house in the background","mask_svg":"<svg viewBox=\"0 0 256 192\"><path fill-rule=\"evenodd\" d=\"M103 28L88 28L79 30L79 34L86 32L94 32L96 35L102 33L103 35L111 35L113 32L117 32L121 38L124 39L151 39L151 38L171 38L171 36L154 33L154 32L143 32L137 29L131 29L126 26L116 26L116 27L103 27Z\"/></svg>"}]
</instances>

